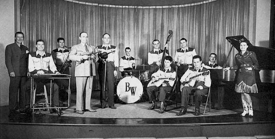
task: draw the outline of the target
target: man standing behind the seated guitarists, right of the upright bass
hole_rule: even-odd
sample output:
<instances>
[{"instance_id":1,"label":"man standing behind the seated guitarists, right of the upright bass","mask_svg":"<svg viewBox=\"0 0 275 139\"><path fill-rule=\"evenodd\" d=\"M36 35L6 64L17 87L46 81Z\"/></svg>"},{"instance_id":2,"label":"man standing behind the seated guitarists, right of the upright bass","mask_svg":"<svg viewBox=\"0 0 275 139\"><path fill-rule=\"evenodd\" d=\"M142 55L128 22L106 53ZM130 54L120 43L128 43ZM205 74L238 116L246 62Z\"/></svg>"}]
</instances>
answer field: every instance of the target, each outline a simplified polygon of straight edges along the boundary
<instances>
[{"instance_id":1,"label":"man standing behind the seated guitarists, right of the upright bass","mask_svg":"<svg viewBox=\"0 0 275 139\"><path fill-rule=\"evenodd\" d=\"M187 69L192 67L192 58L196 56L197 53L194 48L188 47L186 38L181 38L179 42L181 48L177 49L174 61L176 66L178 66L178 77L181 78Z\"/></svg>"}]
</instances>

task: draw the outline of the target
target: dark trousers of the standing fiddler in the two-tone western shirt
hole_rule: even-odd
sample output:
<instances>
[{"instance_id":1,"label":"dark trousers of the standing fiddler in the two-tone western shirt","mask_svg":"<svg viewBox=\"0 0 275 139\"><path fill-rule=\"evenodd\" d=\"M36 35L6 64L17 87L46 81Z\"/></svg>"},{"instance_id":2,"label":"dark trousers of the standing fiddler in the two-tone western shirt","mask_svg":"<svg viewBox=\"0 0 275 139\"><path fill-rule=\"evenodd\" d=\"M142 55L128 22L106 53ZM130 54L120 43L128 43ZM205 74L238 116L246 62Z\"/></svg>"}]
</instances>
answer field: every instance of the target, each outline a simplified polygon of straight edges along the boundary
<instances>
[{"instance_id":1,"label":"dark trousers of the standing fiddler in the two-tone western shirt","mask_svg":"<svg viewBox=\"0 0 275 139\"><path fill-rule=\"evenodd\" d=\"M105 64L99 64L99 83L100 83L100 103L102 106L106 105L108 98L108 105L114 106L114 89L115 89L115 77L114 77L115 65L113 62L106 63L106 76L105 76ZM104 91L104 77L106 77L105 91Z\"/></svg>"}]
</instances>

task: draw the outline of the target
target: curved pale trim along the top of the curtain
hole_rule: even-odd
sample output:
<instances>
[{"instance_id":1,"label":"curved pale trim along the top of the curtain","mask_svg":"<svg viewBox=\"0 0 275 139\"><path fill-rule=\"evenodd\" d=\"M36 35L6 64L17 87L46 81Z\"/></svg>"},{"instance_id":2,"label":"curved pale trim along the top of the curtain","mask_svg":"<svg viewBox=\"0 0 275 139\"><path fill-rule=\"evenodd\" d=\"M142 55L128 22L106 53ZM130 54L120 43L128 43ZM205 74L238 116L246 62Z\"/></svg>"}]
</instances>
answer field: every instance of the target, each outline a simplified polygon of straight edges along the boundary
<instances>
[{"instance_id":1,"label":"curved pale trim along the top of the curtain","mask_svg":"<svg viewBox=\"0 0 275 139\"><path fill-rule=\"evenodd\" d=\"M207 1L196 2L196 3L192 3L192 4L169 5L169 6L119 6L119 5L108 5L108 4L98 4L98 3L82 2L82 1L77 1L77 0L64 0L64 1L69 1L69 2L74 2L74 3L79 3L79 4L86 4L86 5L103 6L103 7L145 8L146 9L146 8L173 8L173 7L194 6L194 5L205 4L205 3L208 3L208 2L213 2L213 1L216 1L216 0L207 0Z\"/></svg>"}]
</instances>

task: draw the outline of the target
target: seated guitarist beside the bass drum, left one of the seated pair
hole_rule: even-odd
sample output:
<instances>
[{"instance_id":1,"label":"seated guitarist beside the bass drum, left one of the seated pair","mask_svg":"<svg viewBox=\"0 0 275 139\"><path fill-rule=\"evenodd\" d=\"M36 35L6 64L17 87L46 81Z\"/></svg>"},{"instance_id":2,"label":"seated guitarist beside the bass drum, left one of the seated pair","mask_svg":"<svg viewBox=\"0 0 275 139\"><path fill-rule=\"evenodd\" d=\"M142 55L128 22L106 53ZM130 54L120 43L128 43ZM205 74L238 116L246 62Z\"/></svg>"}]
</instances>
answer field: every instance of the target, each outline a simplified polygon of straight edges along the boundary
<instances>
[{"instance_id":1,"label":"seated guitarist beside the bass drum, left one of the seated pair","mask_svg":"<svg viewBox=\"0 0 275 139\"><path fill-rule=\"evenodd\" d=\"M157 96L155 96L155 92L159 91L159 101L161 102L159 113L164 113L166 92L172 91L172 86L174 85L176 78L176 71L170 66L172 61L173 58L171 56L165 56L164 67L152 74L152 80L148 83L146 88L149 99L153 103L148 110L157 108Z\"/></svg>"}]
</instances>

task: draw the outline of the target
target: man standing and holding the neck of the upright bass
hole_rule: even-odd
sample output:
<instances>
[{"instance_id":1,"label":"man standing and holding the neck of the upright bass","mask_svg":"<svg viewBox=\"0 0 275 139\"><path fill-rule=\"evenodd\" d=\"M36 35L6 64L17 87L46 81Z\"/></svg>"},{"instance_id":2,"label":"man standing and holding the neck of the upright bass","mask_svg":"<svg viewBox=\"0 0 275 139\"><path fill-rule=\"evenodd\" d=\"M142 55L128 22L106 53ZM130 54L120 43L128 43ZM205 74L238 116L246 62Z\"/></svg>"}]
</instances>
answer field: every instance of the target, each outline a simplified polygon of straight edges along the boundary
<instances>
[{"instance_id":1,"label":"man standing and holding the neck of the upright bass","mask_svg":"<svg viewBox=\"0 0 275 139\"><path fill-rule=\"evenodd\" d=\"M161 65L161 59L164 51L159 48L159 40L154 40L152 43L154 49L148 53L148 64L151 65L150 74L157 72L159 66ZM165 44L164 47L168 47L168 44ZM166 50L165 56L169 56L168 50Z\"/></svg>"}]
</instances>

